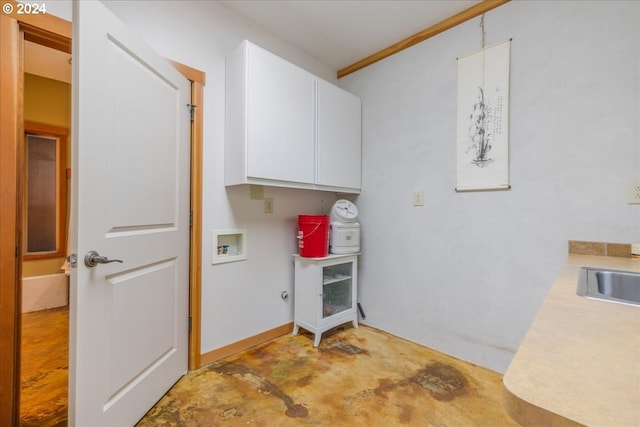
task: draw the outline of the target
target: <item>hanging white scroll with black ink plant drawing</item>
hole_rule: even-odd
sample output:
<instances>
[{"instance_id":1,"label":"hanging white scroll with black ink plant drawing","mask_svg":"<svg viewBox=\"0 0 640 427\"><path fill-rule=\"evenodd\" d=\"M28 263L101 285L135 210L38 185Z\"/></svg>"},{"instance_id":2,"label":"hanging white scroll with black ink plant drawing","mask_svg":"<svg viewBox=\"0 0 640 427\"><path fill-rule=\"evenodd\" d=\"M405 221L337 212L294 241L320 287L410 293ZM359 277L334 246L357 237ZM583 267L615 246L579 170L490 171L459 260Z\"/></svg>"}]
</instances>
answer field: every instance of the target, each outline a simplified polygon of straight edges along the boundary
<instances>
[{"instance_id":1,"label":"hanging white scroll with black ink plant drawing","mask_svg":"<svg viewBox=\"0 0 640 427\"><path fill-rule=\"evenodd\" d=\"M510 188L510 51L507 40L458 58L456 191Z\"/></svg>"}]
</instances>

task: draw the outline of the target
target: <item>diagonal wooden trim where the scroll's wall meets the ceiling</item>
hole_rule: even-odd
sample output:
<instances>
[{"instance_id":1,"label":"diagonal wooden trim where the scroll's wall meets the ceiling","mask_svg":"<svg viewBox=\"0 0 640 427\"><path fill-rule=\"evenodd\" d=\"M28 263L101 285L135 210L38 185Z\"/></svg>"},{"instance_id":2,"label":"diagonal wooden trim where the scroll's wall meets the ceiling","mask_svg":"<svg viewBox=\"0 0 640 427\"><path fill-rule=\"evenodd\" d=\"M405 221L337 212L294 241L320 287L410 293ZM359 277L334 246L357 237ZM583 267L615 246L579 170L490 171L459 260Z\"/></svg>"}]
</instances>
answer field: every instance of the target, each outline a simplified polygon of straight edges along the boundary
<instances>
[{"instance_id":1,"label":"diagonal wooden trim where the scroll's wall meets the ceiling","mask_svg":"<svg viewBox=\"0 0 640 427\"><path fill-rule=\"evenodd\" d=\"M384 58L403 51L415 44L423 42L428 38L431 38L437 34L455 27L456 25L462 24L469 19L475 18L476 16L482 15L483 13L488 12L491 9L501 6L508 1L509 0L484 0L481 3L463 10L462 12L452 16L451 18L445 19L444 21L436 25L426 28L419 33L409 36L404 40L401 40L385 49L382 49L381 51L376 52L373 55L367 56L366 58L361 59L360 61L349 65L348 67L338 70L338 78L340 79Z\"/></svg>"}]
</instances>

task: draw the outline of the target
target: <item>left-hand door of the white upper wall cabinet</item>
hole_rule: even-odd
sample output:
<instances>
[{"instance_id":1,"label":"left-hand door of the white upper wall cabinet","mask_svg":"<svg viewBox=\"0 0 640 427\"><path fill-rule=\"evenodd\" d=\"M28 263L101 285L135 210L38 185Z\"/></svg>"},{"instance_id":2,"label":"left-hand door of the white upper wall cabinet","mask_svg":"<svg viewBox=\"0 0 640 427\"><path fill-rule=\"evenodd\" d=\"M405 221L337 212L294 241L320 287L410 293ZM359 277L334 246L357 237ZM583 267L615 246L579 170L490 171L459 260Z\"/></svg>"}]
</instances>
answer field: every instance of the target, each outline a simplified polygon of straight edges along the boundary
<instances>
[{"instance_id":1,"label":"left-hand door of the white upper wall cabinet","mask_svg":"<svg viewBox=\"0 0 640 427\"><path fill-rule=\"evenodd\" d=\"M313 183L313 75L249 44L247 175Z\"/></svg>"}]
</instances>

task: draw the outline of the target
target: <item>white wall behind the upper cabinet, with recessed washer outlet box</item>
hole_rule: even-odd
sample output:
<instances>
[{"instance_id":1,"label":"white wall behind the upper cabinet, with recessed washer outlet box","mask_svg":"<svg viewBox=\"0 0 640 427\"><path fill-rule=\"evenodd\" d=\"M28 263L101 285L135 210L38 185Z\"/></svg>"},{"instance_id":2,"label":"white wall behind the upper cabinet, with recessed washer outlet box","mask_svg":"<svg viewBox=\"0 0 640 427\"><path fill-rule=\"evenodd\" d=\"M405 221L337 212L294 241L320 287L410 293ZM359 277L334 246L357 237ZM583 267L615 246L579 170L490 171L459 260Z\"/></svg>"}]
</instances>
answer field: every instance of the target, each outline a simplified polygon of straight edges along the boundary
<instances>
[{"instance_id":1,"label":"white wall behind the upper cabinet, with recessed washer outlet box","mask_svg":"<svg viewBox=\"0 0 640 427\"><path fill-rule=\"evenodd\" d=\"M292 254L297 215L328 213L334 193L266 187L274 213L250 200L246 186L224 186L225 57L249 39L300 67L336 81L335 70L300 52L217 2L104 2L158 53L206 73L203 139L203 248L201 351L234 343L293 320ZM50 6L51 4L51 6ZM68 1L47 3L48 11L71 19ZM287 161L287 159L283 159ZM246 228L248 259L212 265L211 230Z\"/></svg>"}]
</instances>

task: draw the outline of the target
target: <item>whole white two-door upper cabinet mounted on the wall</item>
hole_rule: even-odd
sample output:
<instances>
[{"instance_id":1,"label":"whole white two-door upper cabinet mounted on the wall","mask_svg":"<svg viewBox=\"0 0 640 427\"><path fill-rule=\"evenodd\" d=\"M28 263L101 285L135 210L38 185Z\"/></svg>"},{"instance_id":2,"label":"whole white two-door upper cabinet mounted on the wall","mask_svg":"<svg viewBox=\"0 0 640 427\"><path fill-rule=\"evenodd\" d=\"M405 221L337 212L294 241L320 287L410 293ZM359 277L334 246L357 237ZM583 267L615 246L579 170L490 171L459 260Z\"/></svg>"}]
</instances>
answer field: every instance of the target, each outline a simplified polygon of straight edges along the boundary
<instances>
[{"instance_id":1,"label":"whole white two-door upper cabinet mounted on the wall","mask_svg":"<svg viewBox=\"0 0 640 427\"><path fill-rule=\"evenodd\" d=\"M360 100L245 41L227 58L225 185L360 192Z\"/></svg>"}]
</instances>

